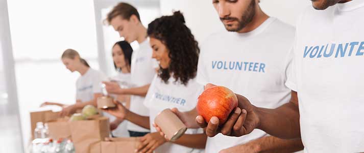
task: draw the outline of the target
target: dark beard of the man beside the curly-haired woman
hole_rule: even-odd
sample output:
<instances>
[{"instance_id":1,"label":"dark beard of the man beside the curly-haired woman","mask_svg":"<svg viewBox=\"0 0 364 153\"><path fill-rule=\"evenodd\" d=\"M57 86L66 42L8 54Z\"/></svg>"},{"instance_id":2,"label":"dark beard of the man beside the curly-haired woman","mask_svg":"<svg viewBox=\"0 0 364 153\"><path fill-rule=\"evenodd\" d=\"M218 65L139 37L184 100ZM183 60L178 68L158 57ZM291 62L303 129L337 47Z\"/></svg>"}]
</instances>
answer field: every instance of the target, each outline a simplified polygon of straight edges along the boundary
<instances>
[{"instance_id":1,"label":"dark beard of the man beside the curly-haired woman","mask_svg":"<svg viewBox=\"0 0 364 153\"><path fill-rule=\"evenodd\" d=\"M252 20L253 17L255 16L255 0L252 0L252 2L249 4L248 9L244 12L244 14L241 16L240 20L238 18L235 17L223 17L220 18L221 21L224 20L234 20L238 22L238 26L237 28L234 29L228 29L227 27L225 27L229 32L238 32L241 29L243 29L244 27L246 27Z\"/></svg>"}]
</instances>

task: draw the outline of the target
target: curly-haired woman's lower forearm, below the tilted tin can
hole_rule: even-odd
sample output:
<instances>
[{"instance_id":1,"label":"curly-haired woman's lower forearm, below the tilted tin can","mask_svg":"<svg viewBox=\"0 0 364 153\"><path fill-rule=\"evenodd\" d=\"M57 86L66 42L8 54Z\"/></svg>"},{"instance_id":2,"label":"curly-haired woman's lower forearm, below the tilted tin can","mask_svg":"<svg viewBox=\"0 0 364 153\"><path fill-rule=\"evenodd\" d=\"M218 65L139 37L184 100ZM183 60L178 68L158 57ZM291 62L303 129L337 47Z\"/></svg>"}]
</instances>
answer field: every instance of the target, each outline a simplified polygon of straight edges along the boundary
<instances>
[{"instance_id":1,"label":"curly-haired woman's lower forearm, below the tilted tin can","mask_svg":"<svg viewBox=\"0 0 364 153\"><path fill-rule=\"evenodd\" d=\"M191 147L204 149L206 146L207 136L206 134L184 134L181 138L174 141L173 143Z\"/></svg>"}]
</instances>

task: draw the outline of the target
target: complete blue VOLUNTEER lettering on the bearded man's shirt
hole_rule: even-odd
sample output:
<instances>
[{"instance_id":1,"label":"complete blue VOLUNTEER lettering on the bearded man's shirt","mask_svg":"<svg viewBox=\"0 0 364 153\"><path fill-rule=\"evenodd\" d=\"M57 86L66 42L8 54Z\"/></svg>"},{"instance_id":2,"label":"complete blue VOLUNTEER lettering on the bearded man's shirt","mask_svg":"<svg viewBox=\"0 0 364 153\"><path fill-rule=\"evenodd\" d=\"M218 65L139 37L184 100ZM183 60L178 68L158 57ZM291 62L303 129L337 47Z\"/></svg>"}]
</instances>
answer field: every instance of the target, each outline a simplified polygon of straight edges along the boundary
<instances>
[{"instance_id":1,"label":"complete blue VOLUNTEER lettering on the bearded man's shirt","mask_svg":"<svg viewBox=\"0 0 364 153\"><path fill-rule=\"evenodd\" d=\"M212 69L217 70L236 70L265 73L264 63L213 60L211 64Z\"/></svg>"}]
</instances>

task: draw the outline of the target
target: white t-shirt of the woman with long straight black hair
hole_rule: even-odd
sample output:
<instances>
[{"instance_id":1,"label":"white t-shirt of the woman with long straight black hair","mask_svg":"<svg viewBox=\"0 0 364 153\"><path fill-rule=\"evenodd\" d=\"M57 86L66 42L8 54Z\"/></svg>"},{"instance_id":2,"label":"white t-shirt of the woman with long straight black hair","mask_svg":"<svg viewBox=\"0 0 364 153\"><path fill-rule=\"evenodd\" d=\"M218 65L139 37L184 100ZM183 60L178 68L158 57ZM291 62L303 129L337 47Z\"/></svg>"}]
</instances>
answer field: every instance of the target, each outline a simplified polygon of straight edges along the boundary
<instances>
[{"instance_id":1,"label":"white t-shirt of the woman with long straight black hair","mask_svg":"<svg viewBox=\"0 0 364 153\"><path fill-rule=\"evenodd\" d=\"M112 77L111 79L115 80L115 81L119 81L119 82L130 82L130 78L131 78L130 73L121 73L120 72L120 73L118 73L118 75ZM110 115L109 113L104 112L104 115L109 117L110 122L114 121L116 119L115 116ZM124 120L115 130L113 130L111 132L112 136L114 136L114 137L129 137L129 133L128 133L128 130L127 130L128 122L129 122L128 120Z\"/></svg>"}]
</instances>

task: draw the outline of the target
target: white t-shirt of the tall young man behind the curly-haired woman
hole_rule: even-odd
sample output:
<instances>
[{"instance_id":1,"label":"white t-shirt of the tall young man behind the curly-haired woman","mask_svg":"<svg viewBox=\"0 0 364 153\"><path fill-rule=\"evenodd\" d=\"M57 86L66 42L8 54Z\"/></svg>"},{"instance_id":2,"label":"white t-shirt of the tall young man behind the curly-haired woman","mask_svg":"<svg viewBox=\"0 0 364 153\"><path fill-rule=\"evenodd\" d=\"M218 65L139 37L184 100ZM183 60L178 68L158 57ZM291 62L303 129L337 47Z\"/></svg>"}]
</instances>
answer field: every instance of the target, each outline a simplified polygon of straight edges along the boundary
<instances>
[{"instance_id":1,"label":"white t-shirt of the tall young man behind the curly-haired woman","mask_svg":"<svg viewBox=\"0 0 364 153\"><path fill-rule=\"evenodd\" d=\"M159 68L157 61L152 58L152 48L149 40L139 44L139 49L133 51L131 59L131 83L135 87L150 84L156 74L155 69ZM148 116L149 110L143 105L144 97L131 96L130 110L139 115ZM131 122L128 123L128 130L136 132L149 132L148 129L142 128Z\"/></svg>"}]
</instances>

